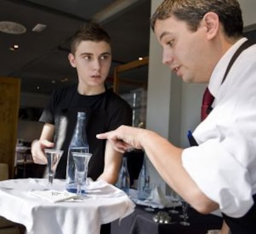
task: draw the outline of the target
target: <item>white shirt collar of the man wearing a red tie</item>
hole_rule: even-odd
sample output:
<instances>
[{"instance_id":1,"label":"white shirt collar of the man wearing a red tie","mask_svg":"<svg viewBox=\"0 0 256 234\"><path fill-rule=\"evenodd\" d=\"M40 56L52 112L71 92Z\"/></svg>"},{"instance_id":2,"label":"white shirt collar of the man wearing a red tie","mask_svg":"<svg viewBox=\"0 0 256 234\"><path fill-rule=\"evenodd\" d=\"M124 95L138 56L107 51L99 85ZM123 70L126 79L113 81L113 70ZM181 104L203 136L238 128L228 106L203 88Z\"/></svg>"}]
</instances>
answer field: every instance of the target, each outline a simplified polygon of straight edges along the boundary
<instances>
[{"instance_id":1,"label":"white shirt collar of the man wearing a red tie","mask_svg":"<svg viewBox=\"0 0 256 234\"><path fill-rule=\"evenodd\" d=\"M247 38L241 38L238 40L228 51L221 57L220 61L216 64L213 73L211 73L210 81L208 84L208 89L210 90L211 94L216 97L218 94L218 90L221 86L221 81L223 80L224 73L228 67L229 61L233 57L234 53L237 51L239 46L241 46L244 41L247 41Z\"/></svg>"}]
</instances>

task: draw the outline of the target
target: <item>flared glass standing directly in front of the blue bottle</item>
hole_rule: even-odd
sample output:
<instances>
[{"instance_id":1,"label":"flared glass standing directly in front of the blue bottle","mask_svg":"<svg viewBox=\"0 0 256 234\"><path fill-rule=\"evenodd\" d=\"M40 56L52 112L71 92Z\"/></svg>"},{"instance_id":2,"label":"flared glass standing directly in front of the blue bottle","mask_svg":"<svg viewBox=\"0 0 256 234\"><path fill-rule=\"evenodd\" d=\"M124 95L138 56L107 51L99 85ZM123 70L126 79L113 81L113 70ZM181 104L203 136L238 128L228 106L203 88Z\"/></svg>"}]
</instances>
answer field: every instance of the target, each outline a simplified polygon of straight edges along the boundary
<instances>
[{"instance_id":1,"label":"flared glass standing directly in front of the blue bottle","mask_svg":"<svg viewBox=\"0 0 256 234\"><path fill-rule=\"evenodd\" d=\"M86 183L88 163L92 154L73 152L72 156L75 162L75 182L77 183L77 195L82 198L82 186Z\"/></svg>"}]
</instances>

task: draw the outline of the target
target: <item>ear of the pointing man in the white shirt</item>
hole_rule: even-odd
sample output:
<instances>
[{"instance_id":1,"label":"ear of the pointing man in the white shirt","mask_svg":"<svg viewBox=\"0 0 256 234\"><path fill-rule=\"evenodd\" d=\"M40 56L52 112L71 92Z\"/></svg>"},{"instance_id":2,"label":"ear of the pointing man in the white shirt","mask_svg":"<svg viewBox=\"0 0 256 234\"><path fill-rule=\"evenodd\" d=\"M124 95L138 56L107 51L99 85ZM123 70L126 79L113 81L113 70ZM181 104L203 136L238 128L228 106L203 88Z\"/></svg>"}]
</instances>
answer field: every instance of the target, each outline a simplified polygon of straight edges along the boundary
<instances>
[{"instance_id":1,"label":"ear of the pointing man in the white shirt","mask_svg":"<svg viewBox=\"0 0 256 234\"><path fill-rule=\"evenodd\" d=\"M213 39L220 30L220 19L215 12L207 12L203 16L203 22L207 28L207 39Z\"/></svg>"}]
</instances>

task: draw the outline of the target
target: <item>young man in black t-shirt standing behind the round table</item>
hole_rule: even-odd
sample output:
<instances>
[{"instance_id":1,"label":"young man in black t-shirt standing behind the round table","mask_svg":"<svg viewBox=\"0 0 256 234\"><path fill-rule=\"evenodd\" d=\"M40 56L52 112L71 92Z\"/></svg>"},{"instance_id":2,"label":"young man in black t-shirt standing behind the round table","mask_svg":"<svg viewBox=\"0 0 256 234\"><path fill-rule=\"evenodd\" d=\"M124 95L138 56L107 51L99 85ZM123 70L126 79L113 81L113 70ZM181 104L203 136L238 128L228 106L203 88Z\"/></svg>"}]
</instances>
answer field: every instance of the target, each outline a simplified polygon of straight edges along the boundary
<instances>
[{"instance_id":1,"label":"young man in black t-shirt standing behind the round table","mask_svg":"<svg viewBox=\"0 0 256 234\"><path fill-rule=\"evenodd\" d=\"M46 164L43 149L63 149L56 178L66 177L67 149L74 131L77 112L88 116L87 137L93 154L88 177L108 183L117 181L122 154L96 139L96 133L132 123L132 109L126 101L106 90L105 80L111 65L111 41L100 25L89 23L75 33L70 42L70 65L77 70L78 85L53 92L40 121L45 125L39 140L32 144L33 161Z\"/></svg>"}]
</instances>

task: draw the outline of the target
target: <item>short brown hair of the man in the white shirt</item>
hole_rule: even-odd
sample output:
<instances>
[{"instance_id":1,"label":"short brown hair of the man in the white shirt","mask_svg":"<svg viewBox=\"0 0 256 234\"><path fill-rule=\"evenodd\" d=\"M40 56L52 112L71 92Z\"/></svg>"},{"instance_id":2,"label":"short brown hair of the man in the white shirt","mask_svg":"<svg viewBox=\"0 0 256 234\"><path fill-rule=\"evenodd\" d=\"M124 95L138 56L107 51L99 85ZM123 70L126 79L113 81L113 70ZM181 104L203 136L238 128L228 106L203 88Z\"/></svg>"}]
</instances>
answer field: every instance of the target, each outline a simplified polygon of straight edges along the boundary
<instances>
[{"instance_id":1,"label":"short brown hair of the man in the white shirt","mask_svg":"<svg viewBox=\"0 0 256 234\"><path fill-rule=\"evenodd\" d=\"M151 17L151 28L154 30L156 20L174 16L187 22L190 30L196 31L207 12L218 15L227 36L242 36L242 12L237 0L164 0Z\"/></svg>"}]
</instances>

